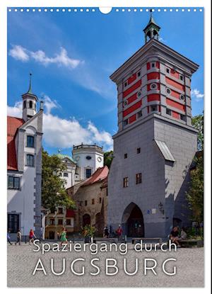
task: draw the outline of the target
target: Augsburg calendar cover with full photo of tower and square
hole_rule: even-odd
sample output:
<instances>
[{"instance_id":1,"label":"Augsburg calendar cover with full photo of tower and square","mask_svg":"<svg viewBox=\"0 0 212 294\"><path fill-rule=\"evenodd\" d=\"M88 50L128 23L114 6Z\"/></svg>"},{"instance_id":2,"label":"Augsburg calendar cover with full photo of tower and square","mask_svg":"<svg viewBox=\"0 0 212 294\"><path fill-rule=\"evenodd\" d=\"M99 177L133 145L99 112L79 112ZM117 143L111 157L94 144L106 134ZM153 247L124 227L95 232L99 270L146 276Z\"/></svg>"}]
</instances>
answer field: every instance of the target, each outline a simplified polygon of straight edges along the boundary
<instances>
[{"instance_id":1,"label":"Augsburg calendar cover with full photo of tower and square","mask_svg":"<svg viewBox=\"0 0 212 294\"><path fill-rule=\"evenodd\" d=\"M7 8L8 287L204 287L204 8Z\"/></svg>"}]
</instances>

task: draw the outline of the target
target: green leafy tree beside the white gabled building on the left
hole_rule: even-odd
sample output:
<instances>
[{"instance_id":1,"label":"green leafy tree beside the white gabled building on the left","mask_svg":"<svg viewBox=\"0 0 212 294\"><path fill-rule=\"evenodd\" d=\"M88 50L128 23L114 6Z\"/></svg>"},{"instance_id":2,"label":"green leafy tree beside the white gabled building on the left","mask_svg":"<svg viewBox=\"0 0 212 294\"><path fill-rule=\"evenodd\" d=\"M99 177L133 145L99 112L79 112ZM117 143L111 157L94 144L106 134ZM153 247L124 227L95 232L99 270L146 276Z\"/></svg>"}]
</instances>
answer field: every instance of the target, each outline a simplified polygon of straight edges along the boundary
<instances>
[{"instance_id":1,"label":"green leafy tree beside the white gabled building on the left","mask_svg":"<svg viewBox=\"0 0 212 294\"><path fill-rule=\"evenodd\" d=\"M69 197L64 184L66 181L60 176L66 170L66 164L61 163L57 155L49 156L42 150L42 205L54 210L57 206L75 208L75 203Z\"/></svg>"}]
</instances>

